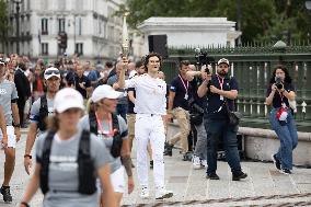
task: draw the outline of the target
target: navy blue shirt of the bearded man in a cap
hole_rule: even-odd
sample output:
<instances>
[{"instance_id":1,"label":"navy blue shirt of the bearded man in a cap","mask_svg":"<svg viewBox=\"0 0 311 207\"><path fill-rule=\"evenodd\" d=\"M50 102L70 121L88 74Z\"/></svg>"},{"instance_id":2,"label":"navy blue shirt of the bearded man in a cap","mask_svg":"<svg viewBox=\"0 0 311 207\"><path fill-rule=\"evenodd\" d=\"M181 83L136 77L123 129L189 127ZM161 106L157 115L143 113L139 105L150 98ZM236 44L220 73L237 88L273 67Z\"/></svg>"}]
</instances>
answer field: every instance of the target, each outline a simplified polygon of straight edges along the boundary
<instances>
[{"instance_id":1,"label":"navy blue shirt of the bearded man in a cap","mask_svg":"<svg viewBox=\"0 0 311 207\"><path fill-rule=\"evenodd\" d=\"M217 74L214 74L210 80L210 84L216 87L217 89L221 89L221 82L222 79L218 78ZM223 83L222 83L222 90L223 91L231 91L231 90L237 90L239 91L239 85L238 81L235 80L234 77L229 77L227 76L223 78ZM212 119L224 119L227 118L227 110L224 105L224 100L227 100L229 108L233 110L234 102L233 100L229 100L223 97L223 100L220 99L220 95L217 93L211 93L207 92L207 108L205 115L207 118L212 118Z\"/></svg>"}]
</instances>

